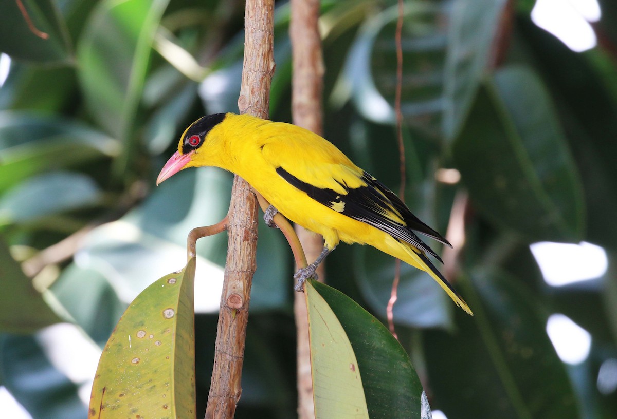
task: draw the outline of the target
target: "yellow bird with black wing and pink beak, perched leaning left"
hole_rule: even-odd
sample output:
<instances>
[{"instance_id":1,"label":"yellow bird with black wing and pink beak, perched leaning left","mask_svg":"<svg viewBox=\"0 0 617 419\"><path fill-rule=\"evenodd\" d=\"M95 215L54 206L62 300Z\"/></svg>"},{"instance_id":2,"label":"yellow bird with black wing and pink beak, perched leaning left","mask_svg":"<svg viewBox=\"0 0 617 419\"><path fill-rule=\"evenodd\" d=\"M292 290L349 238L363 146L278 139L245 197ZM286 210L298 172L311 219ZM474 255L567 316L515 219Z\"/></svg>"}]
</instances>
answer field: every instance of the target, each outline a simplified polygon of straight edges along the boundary
<instances>
[{"instance_id":1,"label":"yellow bird with black wing and pink beak, perched leaning left","mask_svg":"<svg viewBox=\"0 0 617 419\"><path fill-rule=\"evenodd\" d=\"M339 242L366 244L428 272L473 315L426 253L440 262L441 258L415 232L450 243L414 216L394 192L317 134L251 115L204 116L184 131L178 152L165 163L157 185L182 169L199 166L238 174L270 202L268 216L273 215L271 209L278 210L323 236L320 256L294 275L299 283L314 276Z\"/></svg>"}]
</instances>

